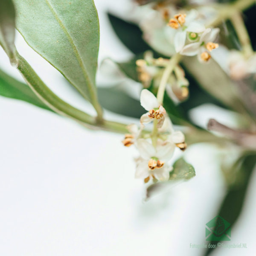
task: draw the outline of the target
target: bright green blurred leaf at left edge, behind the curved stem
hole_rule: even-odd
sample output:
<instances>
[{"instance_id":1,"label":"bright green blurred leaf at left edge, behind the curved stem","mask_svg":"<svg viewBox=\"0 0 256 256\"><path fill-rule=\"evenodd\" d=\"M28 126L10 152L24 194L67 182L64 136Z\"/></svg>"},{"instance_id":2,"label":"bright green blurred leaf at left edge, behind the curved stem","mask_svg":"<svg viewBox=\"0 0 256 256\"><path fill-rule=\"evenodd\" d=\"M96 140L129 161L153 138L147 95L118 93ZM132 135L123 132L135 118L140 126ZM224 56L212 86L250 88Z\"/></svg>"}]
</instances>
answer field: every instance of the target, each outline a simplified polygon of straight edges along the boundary
<instances>
[{"instance_id":1,"label":"bright green blurred leaf at left edge, behind the curved stem","mask_svg":"<svg viewBox=\"0 0 256 256\"><path fill-rule=\"evenodd\" d=\"M28 85L8 76L2 70L0 70L0 95L12 99L20 99L40 108L52 111L43 102L41 102Z\"/></svg>"}]
</instances>

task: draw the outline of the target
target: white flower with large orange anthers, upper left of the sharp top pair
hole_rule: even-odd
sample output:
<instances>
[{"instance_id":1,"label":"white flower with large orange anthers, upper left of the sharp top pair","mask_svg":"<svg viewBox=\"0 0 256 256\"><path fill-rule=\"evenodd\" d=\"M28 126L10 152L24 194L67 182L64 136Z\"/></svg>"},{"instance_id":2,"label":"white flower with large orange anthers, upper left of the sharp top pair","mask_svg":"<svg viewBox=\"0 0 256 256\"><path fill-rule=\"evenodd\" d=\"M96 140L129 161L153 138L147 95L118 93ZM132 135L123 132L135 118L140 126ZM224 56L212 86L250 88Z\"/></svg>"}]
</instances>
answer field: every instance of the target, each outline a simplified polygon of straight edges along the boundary
<instances>
[{"instance_id":1,"label":"white flower with large orange anthers, upper left of the sharp top pair","mask_svg":"<svg viewBox=\"0 0 256 256\"><path fill-rule=\"evenodd\" d=\"M199 37L199 34L204 32L205 26L200 21L196 20L198 17L198 12L196 10L191 10L188 15L177 14L174 19L169 21L169 26L176 30L173 43L176 52L180 52L181 49L186 44L186 38L190 41L196 41ZM170 37L173 36L172 30L166 29L166 32L171 33Z\"/></svg>"}]
</instances>

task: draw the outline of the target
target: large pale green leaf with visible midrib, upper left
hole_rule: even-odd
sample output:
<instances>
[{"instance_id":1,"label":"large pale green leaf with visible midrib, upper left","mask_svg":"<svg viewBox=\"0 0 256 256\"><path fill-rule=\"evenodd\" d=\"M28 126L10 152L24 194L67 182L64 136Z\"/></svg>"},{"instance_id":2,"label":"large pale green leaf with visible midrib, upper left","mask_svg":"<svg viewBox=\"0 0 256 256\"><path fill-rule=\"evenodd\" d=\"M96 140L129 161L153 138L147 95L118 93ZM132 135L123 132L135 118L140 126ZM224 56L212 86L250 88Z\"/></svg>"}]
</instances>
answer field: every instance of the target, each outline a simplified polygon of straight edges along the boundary
<instances>
[{"instance_id":1,"label":"large pale green leaf with visible midrib, upper left","mask_svg":"<svg viewBox=\"0 0 256 256\"><path fill-rule=\"evenodd\" d=\"M84 98L95 102L99 20L93 0L14 3L17 29L29 46L58 69Z\"/></svg>"}]
</instances>

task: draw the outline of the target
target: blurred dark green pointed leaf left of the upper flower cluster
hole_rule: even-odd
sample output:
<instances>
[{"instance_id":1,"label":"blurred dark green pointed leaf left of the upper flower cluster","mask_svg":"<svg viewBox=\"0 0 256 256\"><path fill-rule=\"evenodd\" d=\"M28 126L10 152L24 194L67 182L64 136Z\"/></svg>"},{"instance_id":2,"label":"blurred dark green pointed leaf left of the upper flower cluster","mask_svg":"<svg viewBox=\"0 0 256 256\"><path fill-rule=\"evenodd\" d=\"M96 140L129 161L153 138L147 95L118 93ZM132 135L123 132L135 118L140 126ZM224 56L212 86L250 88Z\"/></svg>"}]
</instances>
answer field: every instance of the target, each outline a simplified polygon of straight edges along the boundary
<instances>
[{"instance_id":1,"label":"blurred dark green pointed leaf left of the upper flower cluster","mask_svg":"<svg viewBox=\"0 0 256 256\"><path fill-rule=\"evenodd\" d=\"M110 23L122 43L134 54L139 54L150 49L142 38L142 31L133 23L108 14Z\"/></svg>"}]
</instances>

